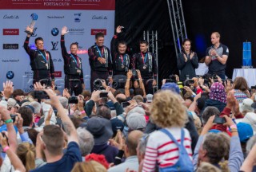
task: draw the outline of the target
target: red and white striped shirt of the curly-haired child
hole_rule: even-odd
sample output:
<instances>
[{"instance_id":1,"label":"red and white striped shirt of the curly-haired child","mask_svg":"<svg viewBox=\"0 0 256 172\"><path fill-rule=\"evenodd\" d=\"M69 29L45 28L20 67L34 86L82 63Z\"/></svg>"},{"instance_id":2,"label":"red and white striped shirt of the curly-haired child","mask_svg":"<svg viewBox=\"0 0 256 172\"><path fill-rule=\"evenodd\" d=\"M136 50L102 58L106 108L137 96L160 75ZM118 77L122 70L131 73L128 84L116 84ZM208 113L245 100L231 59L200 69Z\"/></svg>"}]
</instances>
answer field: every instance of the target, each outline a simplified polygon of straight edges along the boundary
<instances>
[{"instance_id":1,"label":"red and white striped shirt of the curly-haired child","mask_svg":"<svg viewBox=\"0 0 256 172\"><path fill-rule=\"evenodd\" d=\"M181 128L171 127L166 128L181 143ZM185 135L183 146L189 154L192 161L191 138L189 131L184 128ZM160 167L174 166L178 162L178 147L170 140L169 136L162 131L154 131L146 144L146 154L143 163L142 171L155 171L156 165Z\"/></svg>"}]
</instances>

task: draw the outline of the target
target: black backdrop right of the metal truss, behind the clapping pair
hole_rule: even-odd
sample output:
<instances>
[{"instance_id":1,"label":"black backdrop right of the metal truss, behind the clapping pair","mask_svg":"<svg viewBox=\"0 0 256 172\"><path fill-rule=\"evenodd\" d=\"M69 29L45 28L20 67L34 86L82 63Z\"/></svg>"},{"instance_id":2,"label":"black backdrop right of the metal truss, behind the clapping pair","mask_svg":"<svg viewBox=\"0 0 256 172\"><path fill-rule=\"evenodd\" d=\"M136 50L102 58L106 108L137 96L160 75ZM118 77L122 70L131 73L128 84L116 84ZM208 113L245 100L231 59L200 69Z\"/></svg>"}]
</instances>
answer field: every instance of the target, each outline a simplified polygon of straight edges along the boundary
<instances>
[{"instance_id":1,"label":"black backdrop right of the metal truss, behind the clapping pair","mask_svg":"<svg viewBox=\"0 0 256 172\"><path fill-rule=\"evenodd\" d=\"M219 32L221 42L227 45L230 55L226 74L232 77L234 68L242 66L242 42L252 43L252 63L256 60L254 45L256 43L254 0L183 0L186 29L192 39L194 50L199 57L205 56L206 47L210 46L210 34Z\"/></svg>"}]
</instances>

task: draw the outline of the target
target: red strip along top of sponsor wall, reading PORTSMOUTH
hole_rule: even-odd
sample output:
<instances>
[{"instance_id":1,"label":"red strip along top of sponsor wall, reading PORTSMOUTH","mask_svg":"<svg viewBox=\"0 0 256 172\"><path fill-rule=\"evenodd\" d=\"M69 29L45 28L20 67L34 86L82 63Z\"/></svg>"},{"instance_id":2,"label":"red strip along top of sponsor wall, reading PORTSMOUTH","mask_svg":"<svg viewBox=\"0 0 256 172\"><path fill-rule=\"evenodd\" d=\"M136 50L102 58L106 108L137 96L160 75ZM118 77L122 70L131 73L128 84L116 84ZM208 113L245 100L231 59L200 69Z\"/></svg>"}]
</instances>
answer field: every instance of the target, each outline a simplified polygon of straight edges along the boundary
<instances>
[{"instance_id":1,"label":"red strip along top of sponsor wall, reading PORTSMOUTH","mask_svg":"<svg viewBox=\"0 0 256 172\"><path fill-rule=\"evenodd\" d=\"M1 10L114 10L115 0L1 0Z\"/></svg>"}]
</instances>

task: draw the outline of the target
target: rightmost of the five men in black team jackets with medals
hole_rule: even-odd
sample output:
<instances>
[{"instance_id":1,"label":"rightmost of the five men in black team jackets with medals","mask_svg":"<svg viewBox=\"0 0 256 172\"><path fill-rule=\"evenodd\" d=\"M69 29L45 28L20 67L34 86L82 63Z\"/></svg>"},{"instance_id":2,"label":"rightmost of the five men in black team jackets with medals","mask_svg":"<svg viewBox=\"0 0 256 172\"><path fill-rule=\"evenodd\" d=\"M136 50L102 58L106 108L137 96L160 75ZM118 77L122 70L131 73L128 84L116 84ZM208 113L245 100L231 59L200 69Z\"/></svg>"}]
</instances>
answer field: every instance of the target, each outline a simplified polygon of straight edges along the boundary
<instances>
[{"instance_id":1,"label":"rightmost of the five men in black team jackets with medals","mask_svg":"<svg viewBox=\"0 0 256 172\"><path fill-rule=\"evenodd\" d=\"M157 63L153 53L147 51L149 43L140 41L140 53L135 53L132 57L131 66L133 69L140 70L142 80L146 88L146 94L153 94L152 86L157 84ZM134 81L134 88L138 87L138 81Z\"/></svg>"}]
</instances>

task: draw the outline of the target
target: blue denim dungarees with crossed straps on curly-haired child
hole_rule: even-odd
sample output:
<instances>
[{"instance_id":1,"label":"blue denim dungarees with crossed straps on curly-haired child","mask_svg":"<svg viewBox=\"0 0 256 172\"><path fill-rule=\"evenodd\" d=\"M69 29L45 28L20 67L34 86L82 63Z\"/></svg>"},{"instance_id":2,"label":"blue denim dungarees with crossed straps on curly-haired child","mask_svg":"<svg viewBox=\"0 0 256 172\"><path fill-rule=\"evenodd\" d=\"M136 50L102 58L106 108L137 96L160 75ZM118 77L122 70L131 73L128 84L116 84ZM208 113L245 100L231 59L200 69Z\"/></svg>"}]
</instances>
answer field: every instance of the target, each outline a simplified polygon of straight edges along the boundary
<instances>
[{"instance_id":1,"label":"blue denim dungarees with crossed straps on curly-haired child","mask_svg":"<svg viewBox=\"0 0 256 172\"><path fill-rule=\"evenodd\" d=\"M167 131L166 129L161 129L159 131L162 131L163 133L165 133L166 135L169 136L169 138L174 141L174 143L177 145L178 147L178 152L179 152L179 156L178 156L178 162L176 162L174 164L174 166L166 166L166 167L160 167L158 168L159 172L169 172L169 171L194 171L194 166L192 161L190 160L190 156L189 154L186 152L186 148L183 146L183 141L184 141L184 129L182 128L182 137L181 137L181 144L179 144L177 142L176 139L174 139L174 136L170 134L169 131Z\"/></svg>"}]
</instances>

